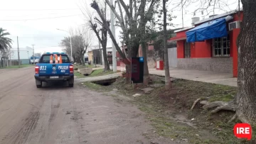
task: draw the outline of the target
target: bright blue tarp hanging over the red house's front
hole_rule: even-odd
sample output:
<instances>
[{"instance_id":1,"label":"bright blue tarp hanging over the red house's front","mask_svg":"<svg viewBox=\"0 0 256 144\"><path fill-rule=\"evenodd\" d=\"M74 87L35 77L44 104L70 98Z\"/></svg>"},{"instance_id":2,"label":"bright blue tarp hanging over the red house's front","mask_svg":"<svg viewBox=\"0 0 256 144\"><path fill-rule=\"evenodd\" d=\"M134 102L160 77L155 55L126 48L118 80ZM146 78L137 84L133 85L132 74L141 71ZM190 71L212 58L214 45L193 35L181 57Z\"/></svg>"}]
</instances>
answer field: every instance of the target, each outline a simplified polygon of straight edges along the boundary
<instances>
[{"instance_id":1,"label":"bright blue tarp hanging over the red house's front","mask_svg":"<svg viewBox=\"0 0 256 144\"><path fill-rule=\"evenodd\" d=\"M221 38L228 35L226 28L225 18L219 18L213 21L208 21L206 23L197 26L186 32L188 43L193 43L196 41L208 40L211 38Z\"/></svg>"}]
</instances>

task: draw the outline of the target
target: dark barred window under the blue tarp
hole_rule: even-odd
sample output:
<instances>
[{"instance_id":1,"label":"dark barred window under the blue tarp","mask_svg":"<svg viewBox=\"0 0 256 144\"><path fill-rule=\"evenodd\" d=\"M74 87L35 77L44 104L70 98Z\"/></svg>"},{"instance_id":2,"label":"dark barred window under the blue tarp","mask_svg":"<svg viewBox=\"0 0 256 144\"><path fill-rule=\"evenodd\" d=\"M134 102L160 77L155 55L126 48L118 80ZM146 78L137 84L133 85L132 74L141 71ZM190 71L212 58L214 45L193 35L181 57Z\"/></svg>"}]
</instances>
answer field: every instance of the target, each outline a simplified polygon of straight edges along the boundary
<instances>
[{"instance_id":1,"label":"dark barred window under the blue tarp","mask_svg":"<svg viewBox=\"0 0 256 144\"><path fill-rule=\"evenodd\" d=\"M213 57L230 56L230 36L213 39Z\"/></svg>"}]
</instances>

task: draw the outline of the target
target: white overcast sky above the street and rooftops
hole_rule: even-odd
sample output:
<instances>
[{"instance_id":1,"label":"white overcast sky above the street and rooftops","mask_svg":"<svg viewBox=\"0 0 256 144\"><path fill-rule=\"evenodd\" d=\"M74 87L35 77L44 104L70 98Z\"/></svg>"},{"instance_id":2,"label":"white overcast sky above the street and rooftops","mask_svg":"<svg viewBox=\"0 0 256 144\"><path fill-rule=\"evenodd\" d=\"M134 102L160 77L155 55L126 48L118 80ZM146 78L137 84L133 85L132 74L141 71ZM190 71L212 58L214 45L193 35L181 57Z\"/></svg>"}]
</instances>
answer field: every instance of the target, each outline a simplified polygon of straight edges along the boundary
<instances>
[{"instance_id":1,"label":"white overcast sky above the street and rooftops","mask_svg":"<svg viewBox=\"0 0 256 144\"><path fill-rule=\"evenodd\" d=\"M215 14L238 8L237 0L226 1L228 6L224 6L224 10L215 10ZM85 16L82 15L80 8L84 7L87 11L93 12L89 5L90 2L91 0L1 0L0 27L11 33L14 49L17 48L16 38L18 36L20 48L32 47L34 44L35 52L59 52L62 50L59 46L60 40L68 36L68 33L58 31L56 28L68 31L69 28L84 25ZM181 6L176 6L176 4L177 2L169 4L169 11L172 11L173 16L177 16L172 21L175 28L181 28ZM196 9L198 9L198 4L184 6L184 26L191 26L193 11ZM202 14L206 15L206 12L198 11L196 16L202 19ZM116 37L119 43L119 29L116 30ZM97 39L93 45L98 45ZM107 46L111 47L110 40Z\"/></svg>"}]
</instances>

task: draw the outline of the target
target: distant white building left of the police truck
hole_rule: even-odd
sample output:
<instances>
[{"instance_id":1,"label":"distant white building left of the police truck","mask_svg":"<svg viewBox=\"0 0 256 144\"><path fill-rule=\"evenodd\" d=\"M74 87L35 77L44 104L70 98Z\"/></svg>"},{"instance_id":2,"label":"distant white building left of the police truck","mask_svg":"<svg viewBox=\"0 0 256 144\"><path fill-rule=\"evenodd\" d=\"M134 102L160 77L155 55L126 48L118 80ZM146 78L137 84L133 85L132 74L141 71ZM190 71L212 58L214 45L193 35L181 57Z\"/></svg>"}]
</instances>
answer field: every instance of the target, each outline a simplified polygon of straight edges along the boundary
<instances>
[{"instance_id":1,"label":"distant white building left of the police truck","mask_svg":"<svg viewBox=\"0 0 256 144\"><path fill-rule=\"evenodd\" d=\"M22 65L29 64L29 60L33 55L33 48L19 48L19 55ZM18 60L18 49L11 49L10 60Z\"/></svg>"}]
</instances>

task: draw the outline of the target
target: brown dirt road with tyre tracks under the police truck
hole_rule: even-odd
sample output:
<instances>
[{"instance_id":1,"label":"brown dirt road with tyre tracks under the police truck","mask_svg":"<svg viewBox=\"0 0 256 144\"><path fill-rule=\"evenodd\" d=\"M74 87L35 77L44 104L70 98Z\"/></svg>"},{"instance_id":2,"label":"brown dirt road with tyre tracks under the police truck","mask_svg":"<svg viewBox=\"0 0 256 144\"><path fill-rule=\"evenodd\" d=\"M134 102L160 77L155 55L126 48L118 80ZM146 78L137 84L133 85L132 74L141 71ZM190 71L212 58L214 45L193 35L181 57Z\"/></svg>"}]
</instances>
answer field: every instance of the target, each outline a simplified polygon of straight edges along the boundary
<instances>
[{"instance_id":1,"label":"brown dirt road with tyre tracks under the police truck","mask_svg":"<svg viewBox=\"0 0 256 144\"><path fill-rule=\"evenodd\" d=\"M0 82L1 144L167 143L125 101L78 84L37 89L33 67L0 70Z\"/></svg>"}]
</instances>

